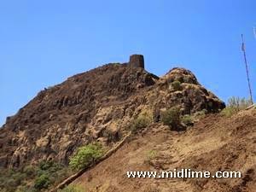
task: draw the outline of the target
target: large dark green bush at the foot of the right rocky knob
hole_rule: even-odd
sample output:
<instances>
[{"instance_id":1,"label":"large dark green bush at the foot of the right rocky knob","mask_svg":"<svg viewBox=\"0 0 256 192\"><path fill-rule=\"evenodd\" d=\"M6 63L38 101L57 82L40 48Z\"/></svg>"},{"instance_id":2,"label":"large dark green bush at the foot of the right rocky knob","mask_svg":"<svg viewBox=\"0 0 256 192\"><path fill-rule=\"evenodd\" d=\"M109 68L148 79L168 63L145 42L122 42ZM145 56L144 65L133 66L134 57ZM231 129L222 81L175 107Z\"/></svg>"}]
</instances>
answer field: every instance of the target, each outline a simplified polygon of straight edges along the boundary
<instances>
[{"instance_id":1,"label":"large dark green bush at the foot of the right rocky knob","mask_svg":"<svg viewBox=\"0 0 256 192\"><path fill-rule=\"evenodd\" d=\"M164 125L170 126L170 128L175 128L181 123L179 108L170 108L161 114L161 121Z\"/></svg>"}]
</instances>

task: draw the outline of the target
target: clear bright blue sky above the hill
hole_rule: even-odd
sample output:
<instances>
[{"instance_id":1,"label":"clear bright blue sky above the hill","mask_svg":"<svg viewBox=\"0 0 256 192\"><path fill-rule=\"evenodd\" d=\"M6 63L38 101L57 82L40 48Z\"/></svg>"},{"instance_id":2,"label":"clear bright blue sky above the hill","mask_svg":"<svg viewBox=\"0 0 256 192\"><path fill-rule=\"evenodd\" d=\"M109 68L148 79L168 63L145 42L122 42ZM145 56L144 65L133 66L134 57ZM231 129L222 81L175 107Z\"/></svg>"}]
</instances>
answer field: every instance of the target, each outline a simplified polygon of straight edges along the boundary
<instances>
[{"instance_id":1,"label":"clear bright blue sky above the hill","mask_svg":"<svg viewBox=\"0 0 256 192\"><path fill-rule=\"evenodd\" d=\"M0 1L0 125L39 90L143 54L163 75L186 67L225 102L248 96L244 34L256 99L255 0Z\"/></svg>"}]
</instances>

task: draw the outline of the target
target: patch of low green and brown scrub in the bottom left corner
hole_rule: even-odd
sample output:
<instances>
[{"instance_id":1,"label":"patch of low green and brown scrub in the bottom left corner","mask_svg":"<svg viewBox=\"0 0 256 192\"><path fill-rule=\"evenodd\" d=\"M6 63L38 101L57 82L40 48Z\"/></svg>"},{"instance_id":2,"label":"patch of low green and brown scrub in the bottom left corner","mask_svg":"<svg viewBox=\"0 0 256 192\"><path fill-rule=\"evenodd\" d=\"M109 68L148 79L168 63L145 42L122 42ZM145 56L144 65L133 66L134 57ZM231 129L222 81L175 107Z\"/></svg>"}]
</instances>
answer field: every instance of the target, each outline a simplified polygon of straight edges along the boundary
<instances>
[{"instance_id":1,"label":"patch of low green and brown scrub in the bottom left corner","mask_svg":"<svg viewBox=\"0 0 256 192\"><path fill-rule=\"evenodd\" d=\"M5 192L44 191L72 173L67 167L54 161L41 161L37 166L0 172L0 191Z\"/></svg>"}]
</instances>

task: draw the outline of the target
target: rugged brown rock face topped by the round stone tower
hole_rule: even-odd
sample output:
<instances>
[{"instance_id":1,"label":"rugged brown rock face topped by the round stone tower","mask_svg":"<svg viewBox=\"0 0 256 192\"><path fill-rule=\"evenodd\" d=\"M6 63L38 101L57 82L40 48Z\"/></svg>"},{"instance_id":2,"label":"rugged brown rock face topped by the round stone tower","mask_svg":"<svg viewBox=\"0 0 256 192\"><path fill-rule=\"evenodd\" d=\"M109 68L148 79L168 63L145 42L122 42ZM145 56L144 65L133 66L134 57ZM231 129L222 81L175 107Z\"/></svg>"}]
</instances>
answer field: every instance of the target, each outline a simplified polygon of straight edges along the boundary
<instances>
[{"instance_id":1,"label":"rugged brown rock face topped by the round stone tower","mask_svg":"<svg viewBox=\"0 0 256 192\"><path fill-rule=\"evenodd\" d=\"M224 108L190 71L174 68L159 78L143 67L143 55L131 55L128 64L104 65L40 91L0 129L0 166L67 164L81 145L119 141L141 113L158 121L160 110L173 106L184 114Z\"/></svg>"}]
</instances>

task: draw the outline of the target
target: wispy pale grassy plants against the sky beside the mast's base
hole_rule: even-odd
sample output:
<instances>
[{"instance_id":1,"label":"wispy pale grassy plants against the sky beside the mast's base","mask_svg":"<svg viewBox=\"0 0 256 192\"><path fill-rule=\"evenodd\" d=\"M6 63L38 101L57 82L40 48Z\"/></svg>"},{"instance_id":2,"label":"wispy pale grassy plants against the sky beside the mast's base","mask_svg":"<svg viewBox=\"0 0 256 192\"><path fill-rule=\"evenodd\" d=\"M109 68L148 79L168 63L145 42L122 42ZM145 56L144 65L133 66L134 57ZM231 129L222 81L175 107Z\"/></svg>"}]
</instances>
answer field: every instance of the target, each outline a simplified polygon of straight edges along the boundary
<instances>
[{"instance_id":1,"label":"wispy pale grassy plants against the sky beside the mast's base","mask_svg":"<svg viewBox=\"0 0 256 192\"><path fill-rule=\"evenodd\" d=\"M232 96L228 100L227 107L221 111L221 114L225 117L231 117L233 114L238 113L240 110L249 107L251 104L252 101L250 99Z\"/></svg>"}]
</instances>

